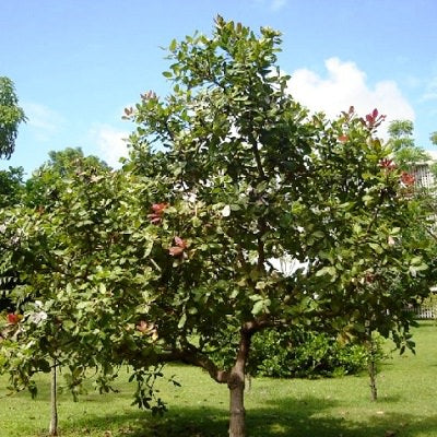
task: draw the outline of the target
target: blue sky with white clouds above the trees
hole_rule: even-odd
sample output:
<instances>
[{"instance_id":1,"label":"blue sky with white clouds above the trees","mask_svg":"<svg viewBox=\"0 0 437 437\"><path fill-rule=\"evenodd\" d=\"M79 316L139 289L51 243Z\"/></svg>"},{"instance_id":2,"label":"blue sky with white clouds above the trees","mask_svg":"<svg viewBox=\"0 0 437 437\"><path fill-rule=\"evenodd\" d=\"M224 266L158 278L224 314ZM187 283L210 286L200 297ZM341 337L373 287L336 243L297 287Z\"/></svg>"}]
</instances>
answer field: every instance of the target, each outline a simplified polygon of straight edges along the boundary
<instances>
[{"instance_id":1,"label":"blue sky with white clouds above the trees","mask_svg":"<svg viewBox=\"0 0 437 437\"><path fill-rule=\"evenodd\" d=\"M196 29L210 34L217 13L283 33L280 67L310 109L377 107L414 120L416 143L435 150L435 0L4 0L0 75L14 81L28 121L0 168L29 174L66 146L115 164L133 129L122 109L144 91L169 91L161 47Z\"/></svg>"}]
</instances>

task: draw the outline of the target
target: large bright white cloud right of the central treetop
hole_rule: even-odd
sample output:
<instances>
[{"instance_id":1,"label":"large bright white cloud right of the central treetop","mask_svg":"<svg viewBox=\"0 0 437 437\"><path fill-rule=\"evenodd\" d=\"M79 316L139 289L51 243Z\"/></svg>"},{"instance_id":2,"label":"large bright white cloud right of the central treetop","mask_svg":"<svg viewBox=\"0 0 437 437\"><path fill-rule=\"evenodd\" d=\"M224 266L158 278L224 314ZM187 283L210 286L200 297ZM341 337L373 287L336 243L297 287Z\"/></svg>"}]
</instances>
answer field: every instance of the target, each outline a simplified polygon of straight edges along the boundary
<instances>
[{"instance_id":1,"label":"large bright white cloud right of the central treetop","mask_svg":"<svg viewBox=\"0 0 437 437\"><path fill-rule=\"evenodd\" d=\"M414 120L414 109L402 96L394 81L380 81L375 86L366 83L366 73L351 61L329 58L324 61L326 76L308 69L292 73L288 90L293 97L314 111L323 111L333 118L354 106L358 115L366 115L374 108L387 115L387 120ZM385 122L380 135L387 133Z\"/></svg>"}]
</instances>

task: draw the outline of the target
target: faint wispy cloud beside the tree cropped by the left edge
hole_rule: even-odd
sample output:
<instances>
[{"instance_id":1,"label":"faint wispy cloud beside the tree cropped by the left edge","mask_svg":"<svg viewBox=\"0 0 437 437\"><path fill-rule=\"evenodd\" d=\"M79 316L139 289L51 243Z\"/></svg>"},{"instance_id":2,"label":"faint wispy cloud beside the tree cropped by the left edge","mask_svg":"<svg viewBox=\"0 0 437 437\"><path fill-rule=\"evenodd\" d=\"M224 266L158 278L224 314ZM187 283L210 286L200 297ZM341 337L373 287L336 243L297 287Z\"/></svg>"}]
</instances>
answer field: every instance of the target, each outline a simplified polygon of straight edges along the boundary
<instances>
[{"instance_id":1,"label":"faint wispy cloud beside the tree cropped by the left edge","mask_svg":"<svg viewBox=\"0 0 437 437\"><path fill-rule=\"evenodd\" d=\"M49 141L66 121L60 114L38 103L25 102L23 109L27 117L27 127L37 141Z\"/></svg>"}]
</instances>

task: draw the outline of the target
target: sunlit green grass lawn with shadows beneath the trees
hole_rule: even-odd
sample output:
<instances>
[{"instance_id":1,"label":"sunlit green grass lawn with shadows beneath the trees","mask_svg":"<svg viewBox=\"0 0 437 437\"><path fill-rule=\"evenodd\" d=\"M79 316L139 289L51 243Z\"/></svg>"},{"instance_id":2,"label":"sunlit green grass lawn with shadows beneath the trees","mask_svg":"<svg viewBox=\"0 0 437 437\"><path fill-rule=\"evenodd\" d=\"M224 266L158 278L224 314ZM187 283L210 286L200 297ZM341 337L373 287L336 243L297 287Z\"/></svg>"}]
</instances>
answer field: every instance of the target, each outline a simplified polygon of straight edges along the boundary
<instances>
[{"instance_id":1,"label":"sunlit green grass lawn with shadows beneath the trees","mask_svg":"<svg viewBox=\"0 0 437 437\"><path fill-rule=\"evenodd\" d=\"M436 437L437 327L415 330L416 356L393 354L378 376L378 402L370 401L366 376L319 380L257 378L246 393L250 437ZM132 387L120 378L119 393L90 390L74 403L60 397L64 437L212 437L227 435L228 393L202 370L169 366L182 387L162 383L169 412L163 418L131 406ZM39 394L5 397L0 377L0 437L44 436L49 422L48 377Z\"/></svg>"}]
</instances>

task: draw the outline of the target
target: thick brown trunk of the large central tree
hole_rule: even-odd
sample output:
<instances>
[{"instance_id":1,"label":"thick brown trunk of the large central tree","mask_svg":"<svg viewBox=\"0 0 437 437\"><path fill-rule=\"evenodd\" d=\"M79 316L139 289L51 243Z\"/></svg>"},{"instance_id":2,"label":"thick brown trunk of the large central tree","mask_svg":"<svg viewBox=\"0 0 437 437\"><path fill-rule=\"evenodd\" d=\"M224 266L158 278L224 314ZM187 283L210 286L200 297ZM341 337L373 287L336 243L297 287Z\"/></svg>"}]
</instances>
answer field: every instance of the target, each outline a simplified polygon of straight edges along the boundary
<instances>
[{"instance_id":1,"label":"thick brown trunk of the large central tree","mask_svg":"<svg viewBox=\"0 0 437 437\"><path fill-rule=\"evenodd\" d=\"M249 355L252 333L243 328L237 359L231 370L227 387L229 388L229 437L246 437L245 411L245 368Z\"/></svg>"}]
</instances>

